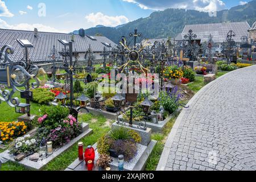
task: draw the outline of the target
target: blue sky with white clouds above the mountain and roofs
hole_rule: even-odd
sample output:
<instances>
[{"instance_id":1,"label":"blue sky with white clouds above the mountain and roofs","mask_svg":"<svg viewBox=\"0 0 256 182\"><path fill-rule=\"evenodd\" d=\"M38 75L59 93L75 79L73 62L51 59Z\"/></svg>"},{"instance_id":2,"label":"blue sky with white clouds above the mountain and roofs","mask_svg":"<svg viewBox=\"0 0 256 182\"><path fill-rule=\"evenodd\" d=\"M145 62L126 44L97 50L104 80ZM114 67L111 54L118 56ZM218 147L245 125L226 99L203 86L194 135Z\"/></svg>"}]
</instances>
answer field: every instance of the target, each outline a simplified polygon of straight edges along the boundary
<instances>
[{"instance_id":1,"label":"blue sky with white clouds above the mountain and roofs","mask_svg":"<svg viewBox=\"0 0 256 182\"><path fill-rule=\"evenodd\" d=\"M71 32L97 24L117 26L168 7L213 11L229 9L247 1L249 0L0 0L0 28L34 30L37 27L39 31Z\"/></svg>"}]
</instances>

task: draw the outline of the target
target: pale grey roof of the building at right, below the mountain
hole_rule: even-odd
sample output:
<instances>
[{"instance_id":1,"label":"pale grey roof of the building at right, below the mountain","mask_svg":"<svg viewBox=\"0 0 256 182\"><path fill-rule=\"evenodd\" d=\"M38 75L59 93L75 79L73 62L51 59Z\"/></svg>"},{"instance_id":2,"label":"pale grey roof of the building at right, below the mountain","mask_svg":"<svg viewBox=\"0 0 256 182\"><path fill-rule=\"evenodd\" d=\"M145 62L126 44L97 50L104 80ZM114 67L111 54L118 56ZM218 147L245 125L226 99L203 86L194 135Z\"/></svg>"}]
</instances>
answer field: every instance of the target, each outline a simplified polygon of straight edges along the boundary
<instances>
[{"instance_id":1,"label":"pale grey roof of the building at right, below the mountain","mask_svg":"<svg viewBox=\"0 0 256 182\"><path fill-rule=\"evenodd\" d=\"M207 42L209 35L213 36L213 42L221 43L226 40L226 35L230 30L236 34L235 42L241 42L242 36L249 36L248 29L250 28L247 22L232 22L232 23L207 23L207 24L188 24L184 27L181 36L184 38L189 30L197 35L197 39L201 42Z\"/></svg>"}]
</instances>

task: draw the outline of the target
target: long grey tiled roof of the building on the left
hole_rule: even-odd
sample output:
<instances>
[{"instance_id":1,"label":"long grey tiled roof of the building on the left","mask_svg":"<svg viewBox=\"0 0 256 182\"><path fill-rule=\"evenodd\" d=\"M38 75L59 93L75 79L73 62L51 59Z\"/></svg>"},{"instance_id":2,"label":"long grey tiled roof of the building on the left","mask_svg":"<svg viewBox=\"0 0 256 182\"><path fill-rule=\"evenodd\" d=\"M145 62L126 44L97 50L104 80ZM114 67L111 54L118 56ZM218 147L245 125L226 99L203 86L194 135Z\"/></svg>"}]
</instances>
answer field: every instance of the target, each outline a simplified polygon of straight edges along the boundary
<instances>
[{"instance_id":1,"label":"long grey tiled roof of the building on the left","mask_svg":"<svg viewBox=\"0 0 256 182\"><path fill-rule=\"evenodd\" d=\"M16 41L16 39L27 39L33 44L33 48L28 48L30 53L30 59L32 61L46 61L48 57L52 55L53 46L55 46L56 52L61 52L64 46L59 42L59 39L72 40L71 34L61 34L53 32L38 32L38 36L34 36L34 31L23 30L7 30L0 28L0 48L5 45L12 46L14 48L14 54L11 55L11 59L20 60L23 57L23 47ZM93 52L101 52L104 47L103 43L108 43L114 46L115 43L112 40L104 36L94 36L96 40L90 39L88 36L74 35L75 42L73 42L73 52L86 52L90 47Z\"/></svg>"}]
</instances>

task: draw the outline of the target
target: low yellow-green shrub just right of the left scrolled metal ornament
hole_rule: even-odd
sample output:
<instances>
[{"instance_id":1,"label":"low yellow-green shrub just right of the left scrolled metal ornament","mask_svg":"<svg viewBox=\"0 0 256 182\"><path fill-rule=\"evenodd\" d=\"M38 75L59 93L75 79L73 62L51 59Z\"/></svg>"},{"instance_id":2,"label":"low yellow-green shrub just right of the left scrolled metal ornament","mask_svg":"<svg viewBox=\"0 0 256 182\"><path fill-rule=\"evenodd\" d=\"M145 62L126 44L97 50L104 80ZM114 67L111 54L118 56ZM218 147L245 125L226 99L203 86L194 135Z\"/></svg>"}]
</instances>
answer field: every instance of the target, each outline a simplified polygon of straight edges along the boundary
<instances>
[{"instance_id":1,"label":"low yellow-green shrub just right of the left scrolled metal ornament","mask_svg":"<svg viewBox=\"0 0 256 182\"><path fill-rule=\"evenodd\" d=\"M38 104L48 104L52 102L55 98L55 94L51 91L43 88L37 88L32 90L33 92L33 101Z\"/></svg>"}]
</instances>

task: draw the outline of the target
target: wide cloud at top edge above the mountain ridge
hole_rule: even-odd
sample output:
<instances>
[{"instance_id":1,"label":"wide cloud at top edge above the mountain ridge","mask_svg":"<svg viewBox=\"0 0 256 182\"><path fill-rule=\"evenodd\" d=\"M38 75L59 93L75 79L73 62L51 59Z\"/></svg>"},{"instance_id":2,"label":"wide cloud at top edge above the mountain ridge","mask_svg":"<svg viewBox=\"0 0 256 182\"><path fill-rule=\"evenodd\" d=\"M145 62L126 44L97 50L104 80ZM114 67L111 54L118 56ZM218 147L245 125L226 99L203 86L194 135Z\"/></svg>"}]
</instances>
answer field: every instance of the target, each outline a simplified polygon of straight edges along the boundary
<instances>
[{"instance_id":1,"label":"wide cloud at top edge above the mountain ridge","mask_svg":"<svg viewBox=\"0 0 256 182\"><path fill-rule=\"evenodd\" d=\"M142 9L165 10L167 8L191 9L198 11L216 11L225 8L222 0L123 0L125 2L134 3Z\"/></svg>"}]
</instances>

